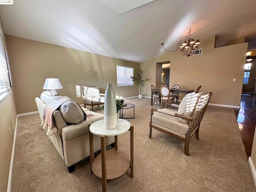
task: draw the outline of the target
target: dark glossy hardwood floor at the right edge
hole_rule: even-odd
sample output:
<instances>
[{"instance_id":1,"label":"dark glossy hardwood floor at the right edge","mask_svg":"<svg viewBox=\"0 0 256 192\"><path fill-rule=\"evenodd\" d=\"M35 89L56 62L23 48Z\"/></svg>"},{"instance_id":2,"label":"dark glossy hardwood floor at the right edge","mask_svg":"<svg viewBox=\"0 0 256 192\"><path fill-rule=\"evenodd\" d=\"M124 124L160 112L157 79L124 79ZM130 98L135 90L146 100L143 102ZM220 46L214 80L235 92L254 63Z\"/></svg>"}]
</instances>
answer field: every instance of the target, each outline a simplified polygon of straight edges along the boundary
<instances>
[{"instance_id":1,"label":"dark glossy hardwood floor at the right edge","mask_svg":"<svg viewBox=\"0 0 256 192\"><path fill-rule=\"evenodd\" d=\"M250 96L242 95L240 110L234 109L234 112L246 155L249 158L252 152L252 142L256 125L256 94L250 94Z\"/></svg>"}]
</instances>

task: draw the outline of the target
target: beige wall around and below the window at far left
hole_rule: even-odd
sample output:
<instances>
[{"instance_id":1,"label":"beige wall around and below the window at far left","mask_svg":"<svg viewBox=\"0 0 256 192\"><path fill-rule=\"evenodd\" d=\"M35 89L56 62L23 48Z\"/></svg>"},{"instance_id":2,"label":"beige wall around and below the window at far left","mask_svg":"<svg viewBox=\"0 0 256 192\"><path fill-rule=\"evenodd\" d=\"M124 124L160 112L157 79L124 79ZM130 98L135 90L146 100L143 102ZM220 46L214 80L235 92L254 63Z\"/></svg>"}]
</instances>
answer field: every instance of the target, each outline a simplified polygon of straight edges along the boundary
<instances>
[{"instance_id":1,"label":"beige wall around and below the window at far left","mask_svg":"<svg viewBox=\"0 0 256 192\"><path fill-rule=\"evenodd\" d=\"M2 32L4 32L1 20L0 27ZM6 47L5 35L2 36L2 40L4 47ZM14 92L12 91L0 102L0 191L3 192L7 191L8 186L16 116ZM11 135L9 128L12 132Z\"/></svg>"}]
</instances>

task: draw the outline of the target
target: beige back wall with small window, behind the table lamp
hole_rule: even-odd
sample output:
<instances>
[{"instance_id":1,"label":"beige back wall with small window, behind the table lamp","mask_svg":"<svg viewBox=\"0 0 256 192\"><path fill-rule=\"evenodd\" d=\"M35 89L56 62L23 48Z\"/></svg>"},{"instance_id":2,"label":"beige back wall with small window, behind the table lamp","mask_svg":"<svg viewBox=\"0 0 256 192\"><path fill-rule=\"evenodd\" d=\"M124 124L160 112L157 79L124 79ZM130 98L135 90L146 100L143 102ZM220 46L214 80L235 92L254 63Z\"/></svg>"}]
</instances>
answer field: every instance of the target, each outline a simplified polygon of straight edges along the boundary
<instances>
[{"instance_id":1,"label":"beige back wall with small window, behind the table lamp","mask_svg":"<svg viewBox=\"0 0 256 192\"><path fill-rule=\"evenodd\" d=\"M46 78L59 78L63 89L58 93L80 104L80 86L98 86L104 93L107 84L112 83L117 96L138 95L137 85L116 86L116 65L136 68L138 63L9 35L6 44L18 114L37 111L34 99L44 91Z\"/></svg>"}]
</instances>

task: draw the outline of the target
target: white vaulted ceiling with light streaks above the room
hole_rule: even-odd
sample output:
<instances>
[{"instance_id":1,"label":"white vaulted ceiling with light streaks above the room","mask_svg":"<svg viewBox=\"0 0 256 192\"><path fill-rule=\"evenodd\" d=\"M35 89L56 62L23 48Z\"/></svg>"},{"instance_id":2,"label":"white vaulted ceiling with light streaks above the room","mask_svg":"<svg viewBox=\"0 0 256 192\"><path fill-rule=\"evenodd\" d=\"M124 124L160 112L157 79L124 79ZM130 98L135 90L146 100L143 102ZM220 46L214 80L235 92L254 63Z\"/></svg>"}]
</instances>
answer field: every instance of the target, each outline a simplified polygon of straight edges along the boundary
<instances>
[{"instance_id":1,"label":"white vaulted ceiling with light streaks above the room","mask_svg":"<svg viewBox=\"0 0 256 192\"><path fill-rule=\"evenodd\" d=\"M255 0L14 0L0 16L5 34L138 63L165 54L162 42L177 49L190 28L256 49Z\"/></svg>"}]
</instances>

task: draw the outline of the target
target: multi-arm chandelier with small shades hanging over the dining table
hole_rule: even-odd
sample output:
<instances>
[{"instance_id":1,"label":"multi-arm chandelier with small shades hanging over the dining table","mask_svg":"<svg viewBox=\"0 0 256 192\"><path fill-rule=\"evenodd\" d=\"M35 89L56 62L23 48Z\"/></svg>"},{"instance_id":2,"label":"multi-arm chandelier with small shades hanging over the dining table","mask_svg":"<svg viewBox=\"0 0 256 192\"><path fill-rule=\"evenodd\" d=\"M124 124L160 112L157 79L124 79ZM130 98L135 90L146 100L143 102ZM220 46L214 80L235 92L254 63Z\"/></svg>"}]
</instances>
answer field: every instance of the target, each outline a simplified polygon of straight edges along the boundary
<instances>
[{"instance_id":1,"label":"multi-arm chandelier with small shades hanging over the dining table","mask_svg":"<svg viewBox=\"0 0 256 192\"><path fill-rule=\"evenodd\" d=\"M183 54L183 56L190 56L190 55L194 55L195 52L198 50L199 46L198 44L200 44L199 39L197 39L196 41L190 37L190 33L191 33L191 29L189 29L188 35L186 37L186 39L184 40L184 42L180 45L180 53ZM188 38L189 37L189 38ZM161 44L163 49L168 51L165 47L164 47L164 43ZM179 49L179 48L178 48ZM176 50L178 50L176 49ZM174 51L168 51L168 52L175 52Z\"/></svg>"}]
</instances>

